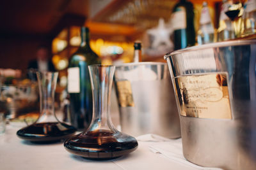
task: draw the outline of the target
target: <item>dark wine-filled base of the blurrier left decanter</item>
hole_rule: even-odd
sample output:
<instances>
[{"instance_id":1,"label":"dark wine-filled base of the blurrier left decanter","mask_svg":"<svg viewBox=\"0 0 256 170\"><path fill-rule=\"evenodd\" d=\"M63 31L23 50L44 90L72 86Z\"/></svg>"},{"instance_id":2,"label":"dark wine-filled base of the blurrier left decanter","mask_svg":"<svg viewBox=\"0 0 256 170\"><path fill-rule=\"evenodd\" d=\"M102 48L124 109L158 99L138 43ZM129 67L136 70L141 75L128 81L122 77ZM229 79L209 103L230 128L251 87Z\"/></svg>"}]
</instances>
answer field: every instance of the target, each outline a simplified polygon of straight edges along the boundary
<instances>
[{"instance_id":1,"label":"dark wine-filled base of the blurrier left decanter","mask_svg":"<svg viewBox=\"0 0 256 170\"><path fill-rule=\"evenodd\" d=\"M17 131L17 136L34 143L49 143L70 138L76 128L61 122L32 124Z\"/></svg>"}]
</instances>

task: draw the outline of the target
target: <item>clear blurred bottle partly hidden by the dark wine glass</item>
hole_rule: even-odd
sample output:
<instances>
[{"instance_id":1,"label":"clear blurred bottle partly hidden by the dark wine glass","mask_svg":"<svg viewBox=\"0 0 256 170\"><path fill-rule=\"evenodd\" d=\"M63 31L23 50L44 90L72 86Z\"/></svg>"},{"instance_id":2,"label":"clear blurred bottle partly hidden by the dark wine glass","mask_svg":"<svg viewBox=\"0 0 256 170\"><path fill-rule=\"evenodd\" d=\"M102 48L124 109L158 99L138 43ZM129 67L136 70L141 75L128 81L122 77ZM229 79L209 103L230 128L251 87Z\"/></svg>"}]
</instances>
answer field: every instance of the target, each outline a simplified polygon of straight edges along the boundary
<instances>
[{"instance_id":1,"label":"clear blurred bottle partly hidden by the dark wine glass","mask_svg":"<svg viewBox=\"0 0 256 170\"><path fill-rule=\"evenodd\" d=\"M234 39L234 32L232 32L232 22L230 18L225 14L228 11L228 7L231 5L230 1L223 0L220 11L220 22L218 27L218 41L225 41L228 39Z\"/></svg>"}]
</instances>

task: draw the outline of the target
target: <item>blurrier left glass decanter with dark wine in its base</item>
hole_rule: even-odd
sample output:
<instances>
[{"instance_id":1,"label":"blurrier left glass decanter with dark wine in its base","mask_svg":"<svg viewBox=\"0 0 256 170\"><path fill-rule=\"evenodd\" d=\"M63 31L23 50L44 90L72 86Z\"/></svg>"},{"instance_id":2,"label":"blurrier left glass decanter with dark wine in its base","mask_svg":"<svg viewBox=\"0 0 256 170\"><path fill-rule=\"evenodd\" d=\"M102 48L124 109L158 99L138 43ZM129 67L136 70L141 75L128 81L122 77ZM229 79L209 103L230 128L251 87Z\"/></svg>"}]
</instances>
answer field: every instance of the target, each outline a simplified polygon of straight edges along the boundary
<instances>
[{"instance_id":1,"label":"blurrier left glass decanter with dark wine in its base","mask_svg":"<svg viewBox=\"0 0 256 170\"><path fill-rule=\"evenodd\" d=\"M52 142L67 139L76 128L62 123L54 112L54 93L58 72L36 72L40 95L40 116L35 123L17 131L17 136L33 142Z\"/></svg>"}]
</instances>

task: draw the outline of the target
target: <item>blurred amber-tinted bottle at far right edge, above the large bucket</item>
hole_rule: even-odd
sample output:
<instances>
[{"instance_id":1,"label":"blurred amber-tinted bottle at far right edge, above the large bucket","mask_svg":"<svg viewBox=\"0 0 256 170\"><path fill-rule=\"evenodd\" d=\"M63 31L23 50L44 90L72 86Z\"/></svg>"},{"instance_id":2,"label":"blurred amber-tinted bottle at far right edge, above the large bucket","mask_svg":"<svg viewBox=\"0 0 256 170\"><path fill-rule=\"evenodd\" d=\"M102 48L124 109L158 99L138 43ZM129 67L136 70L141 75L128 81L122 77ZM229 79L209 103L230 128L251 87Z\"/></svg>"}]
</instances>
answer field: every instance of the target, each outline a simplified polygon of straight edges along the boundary
<instances>
[{"instance_id":1,"label":"blurred amber-tinted bottle at far right edge, above the large bucket","mask_svg":"<svg viewBox=\"0 0 256 170\"><path fill-rule=\"evenodd\" d=\"M256 1L248 0L244 4L242 36L256 33Z\"/></svg>"}]
</instances>

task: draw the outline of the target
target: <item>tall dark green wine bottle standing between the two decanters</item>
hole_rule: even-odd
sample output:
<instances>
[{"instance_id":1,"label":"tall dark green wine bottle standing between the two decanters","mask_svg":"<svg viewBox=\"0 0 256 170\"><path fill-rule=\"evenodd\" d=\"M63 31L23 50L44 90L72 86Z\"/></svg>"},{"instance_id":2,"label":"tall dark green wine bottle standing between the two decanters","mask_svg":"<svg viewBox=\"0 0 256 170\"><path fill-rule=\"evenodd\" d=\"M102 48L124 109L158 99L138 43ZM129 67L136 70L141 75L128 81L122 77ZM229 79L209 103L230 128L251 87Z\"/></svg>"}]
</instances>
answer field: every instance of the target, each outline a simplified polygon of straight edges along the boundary
<instances>
[{"instance_id":1,"label":"tall dark green wine bottle standing between the two decanters","mask_svg":"<svg viewBox=\"0 0 256 170\"><path fill-rule=\"evenodd\" d=\"M92 88L88 66L100 64L100 59L90 48L88 27L81 28L81 45L70 58L68 86L71 124L79 130L88 127L92 120Z\"/></svg>"}]
</instances>

